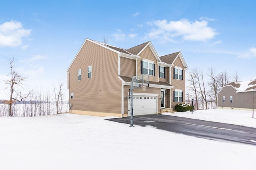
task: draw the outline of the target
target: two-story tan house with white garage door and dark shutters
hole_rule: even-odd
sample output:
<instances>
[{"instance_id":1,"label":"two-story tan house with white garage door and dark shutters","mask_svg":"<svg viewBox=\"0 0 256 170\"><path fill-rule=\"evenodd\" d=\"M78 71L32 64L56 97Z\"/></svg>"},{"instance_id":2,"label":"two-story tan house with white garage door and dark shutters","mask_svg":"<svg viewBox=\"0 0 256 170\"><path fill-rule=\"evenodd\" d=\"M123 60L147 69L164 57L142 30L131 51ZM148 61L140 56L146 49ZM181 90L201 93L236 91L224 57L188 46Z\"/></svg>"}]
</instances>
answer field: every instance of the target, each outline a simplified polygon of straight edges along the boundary
<instances>
[{"instance_id":1,"label":"two-story tan house with white garage door and dark shutters","mask_svg":"<svg viewBox=\"0 0 256 170\"><path fill-rule=\"evenodd\" d=\"M149 87L133 90L134 115L172 111L185 102L185 70L180 52L159 57L150 41L122 49L86 39L70 64L70 113L130 116L132 76L149 74Z\"/></svg>"}]
</instances>

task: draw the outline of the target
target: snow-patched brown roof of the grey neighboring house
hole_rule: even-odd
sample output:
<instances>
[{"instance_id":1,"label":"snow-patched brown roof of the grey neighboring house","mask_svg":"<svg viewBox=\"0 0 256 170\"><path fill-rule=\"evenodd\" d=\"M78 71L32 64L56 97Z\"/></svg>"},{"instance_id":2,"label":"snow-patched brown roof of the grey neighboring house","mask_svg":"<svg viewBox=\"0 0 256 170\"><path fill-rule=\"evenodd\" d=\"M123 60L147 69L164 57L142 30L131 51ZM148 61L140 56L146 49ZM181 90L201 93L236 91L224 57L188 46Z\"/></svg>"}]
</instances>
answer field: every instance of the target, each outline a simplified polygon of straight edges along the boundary
<instances>
[{"instance_id":1,"label":"snow-patched brown roof of the grey neighboring house","mask_svg":"<svg viewBox=\"0 0 256 170\"><path fill-rule=\"evenodd\" d=\"M252 90L256 90L256 80L252 80L252 81L249 80L249 81L242 81L242 82L231 82L231 83L227 84L226 86L232 86L234 89L237 90L236 92L238 92L238 93L239 92L249 92ZM223 86L223 88L226 86Z\"/></svg>"}]
</instances>

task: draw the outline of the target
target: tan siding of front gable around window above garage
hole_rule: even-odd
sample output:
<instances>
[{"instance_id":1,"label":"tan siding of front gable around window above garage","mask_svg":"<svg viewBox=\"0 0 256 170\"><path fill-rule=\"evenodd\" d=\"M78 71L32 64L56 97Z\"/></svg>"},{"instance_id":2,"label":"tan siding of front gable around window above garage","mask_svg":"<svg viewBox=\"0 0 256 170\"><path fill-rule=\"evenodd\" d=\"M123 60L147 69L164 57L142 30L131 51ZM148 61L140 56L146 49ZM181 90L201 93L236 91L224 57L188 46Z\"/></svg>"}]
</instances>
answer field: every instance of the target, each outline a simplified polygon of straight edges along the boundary
<instances>
[{"instance_id":1,"label":"tan siding of front gable around window above garage","mask_svg":"<svg viewBox=\"0 0 256 170\"><path fill-rule=\"evenodd\" d=\"M141 66L140 66L140 61L142 61L143 59L148 59L151 61L154 61L154 64L156 65L156 76L149 76L149 80L150 81L154 81L154 82L158 82L158 64L156 64L157 60L156 57L154 56L154 54L152 53L150 47L146 47L142 53L140 53L140 59L138 60L138 75L141 74Z\"/></svg>"}]
</instances>

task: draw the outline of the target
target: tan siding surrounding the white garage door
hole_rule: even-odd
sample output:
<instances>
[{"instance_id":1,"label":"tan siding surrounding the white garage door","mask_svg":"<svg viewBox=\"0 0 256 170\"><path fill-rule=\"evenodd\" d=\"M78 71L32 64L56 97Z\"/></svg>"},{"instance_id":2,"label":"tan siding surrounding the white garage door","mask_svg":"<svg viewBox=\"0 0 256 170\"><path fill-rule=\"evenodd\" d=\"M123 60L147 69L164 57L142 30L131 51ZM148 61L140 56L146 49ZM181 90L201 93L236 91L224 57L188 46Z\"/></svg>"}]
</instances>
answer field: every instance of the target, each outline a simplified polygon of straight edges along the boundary
<instances>
[{"instance_id":1,"label":"tan siding surrounding the white garage door","mask_svg":"<svg viewBox=\"0 0 256 170\"><path fill-rule=\"evenodd\" d=\"M128 98L130 86L124 86L124 98ZM151 94L158 94L158 111L161 109L161 100L159 99L161 96L161 89L160 88L150 88L147 87L146 91L143 91L142 88L136 88L133 90L134 93L151 93ZM124 114L128 114L128 101L124 100Z\"/></svg>"}]
</instances>

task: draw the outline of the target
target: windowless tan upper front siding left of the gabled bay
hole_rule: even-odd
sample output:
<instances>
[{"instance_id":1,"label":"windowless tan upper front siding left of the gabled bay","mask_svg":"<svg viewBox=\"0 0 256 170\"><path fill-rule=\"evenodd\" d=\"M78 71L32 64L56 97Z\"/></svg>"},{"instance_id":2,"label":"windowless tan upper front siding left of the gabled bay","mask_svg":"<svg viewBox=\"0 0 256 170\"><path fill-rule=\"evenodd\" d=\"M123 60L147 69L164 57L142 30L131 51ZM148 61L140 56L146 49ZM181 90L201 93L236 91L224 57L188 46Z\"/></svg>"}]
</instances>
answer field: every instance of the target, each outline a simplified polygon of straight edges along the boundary
<instances>
[{"instance_id":1,"label":"windowless tan upper front siding left of the gabled bay","mask_svg":"<svg viewBox=\"0 0 256 170\"><path fill-rule=\"evenodd\" d=\"M121 57L121 61L120 61L121 76L128 76L128 77L135 76L136 75L135 62L136 60Z\"/></svg>"}]
</instances>

